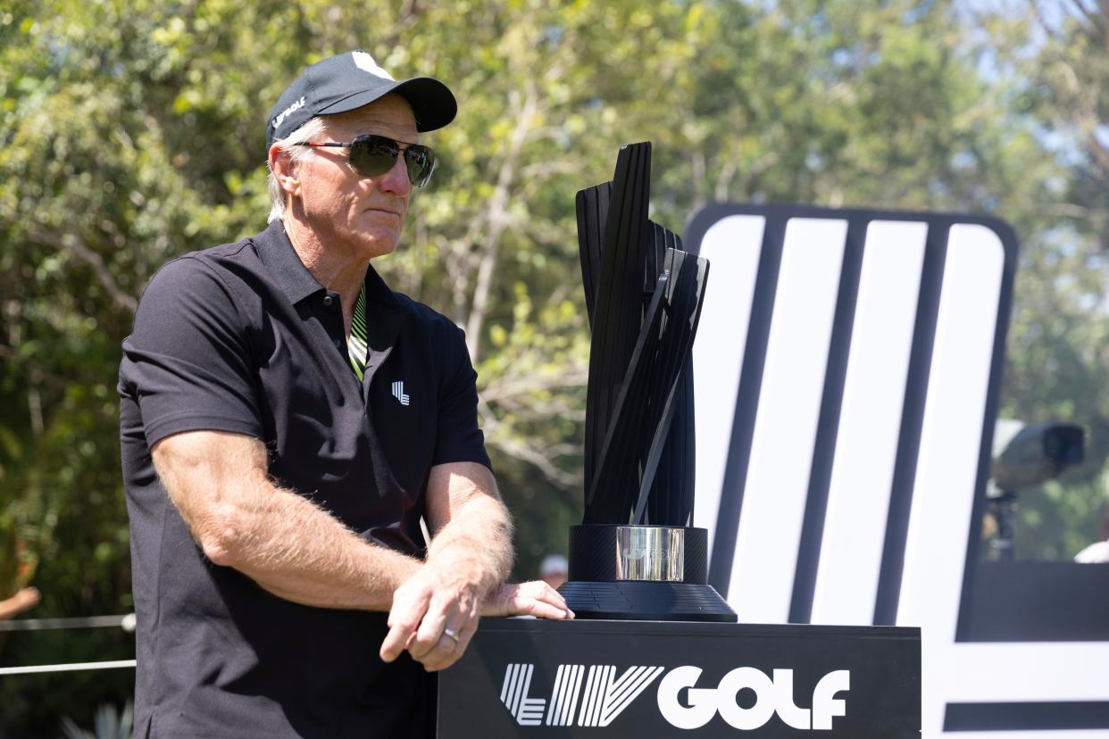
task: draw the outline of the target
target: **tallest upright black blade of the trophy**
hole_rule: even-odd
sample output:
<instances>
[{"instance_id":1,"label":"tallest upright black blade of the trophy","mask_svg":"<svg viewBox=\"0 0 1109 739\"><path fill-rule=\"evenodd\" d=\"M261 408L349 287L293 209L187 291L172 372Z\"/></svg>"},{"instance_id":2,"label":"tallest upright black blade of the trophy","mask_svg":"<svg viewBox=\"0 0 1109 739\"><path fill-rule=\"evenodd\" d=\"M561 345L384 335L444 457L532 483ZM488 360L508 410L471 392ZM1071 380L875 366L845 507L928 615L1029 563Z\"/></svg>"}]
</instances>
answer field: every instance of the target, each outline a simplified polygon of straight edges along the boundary
<instances>
[{"instance_id":1,"label":"tallest upright black blade of the trophy","mask_svg":"<svg viewBox=\"0 0 1109 739\"><path fill-rule=\"evenodd\" d=\"M650 143L630 144L620 150L604 225L589 355L586 523L608 523L597 517L598 506L604 504L594 502L592 491L598 490L593 482L603 463L602 447L642 321L650 170ZM623 475L625 480L614 484L638 490L638 470L625 469Z\"/></svg>"}]
</instances>

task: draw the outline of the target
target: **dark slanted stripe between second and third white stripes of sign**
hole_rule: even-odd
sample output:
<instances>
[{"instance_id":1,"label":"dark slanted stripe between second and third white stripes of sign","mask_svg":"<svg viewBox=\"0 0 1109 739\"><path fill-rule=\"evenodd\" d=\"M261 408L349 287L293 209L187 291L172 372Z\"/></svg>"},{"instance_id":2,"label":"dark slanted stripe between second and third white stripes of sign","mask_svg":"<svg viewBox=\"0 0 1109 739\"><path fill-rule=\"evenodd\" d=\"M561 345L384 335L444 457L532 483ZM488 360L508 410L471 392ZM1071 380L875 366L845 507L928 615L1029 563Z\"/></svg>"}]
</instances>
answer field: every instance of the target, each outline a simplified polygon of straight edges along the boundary
<instances>
[{"instance_id":1,"label":"dark slanted stripe between second and third white stripes of sign","mask_svg":"<svg viewBox=\"0 0 1109 739\"><path fill-rule=\"evenodd\" d=\"M816 591L816 568L824 541L824 519L827 514L828 486L832 482L832 462L840 431L840 411L843 408L843 386L847 377L847 357L855 325L855 305L858 301L858 281L863 271L863 246L866 242L865 218L852 218L847 224L847 239L840 270L840 292L836 297L832 336L828 342L827 369L824 372L824 391L816 421L813 463L808 474L808 497L801 524L801 543L797 551L797 569L793 577L793 596L790 602L790 623L807 624L813 616L813 594Z\"/></svg>"}]
</instances>

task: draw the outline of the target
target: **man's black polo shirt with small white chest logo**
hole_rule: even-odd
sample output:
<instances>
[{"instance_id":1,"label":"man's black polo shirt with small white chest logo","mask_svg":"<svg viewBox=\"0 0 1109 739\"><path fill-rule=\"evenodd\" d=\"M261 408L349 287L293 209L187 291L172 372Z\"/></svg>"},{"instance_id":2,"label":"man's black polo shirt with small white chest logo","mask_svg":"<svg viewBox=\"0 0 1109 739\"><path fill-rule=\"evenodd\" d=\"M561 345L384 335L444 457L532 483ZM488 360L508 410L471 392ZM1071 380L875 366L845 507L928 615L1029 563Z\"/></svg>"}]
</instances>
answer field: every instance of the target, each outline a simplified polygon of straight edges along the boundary
<instances>
[{"instance_id":1,"label":"man's black polo shirt with small white chest logo","mask_svg":"<svg viewBox=\"0 0 1109 739\"><path fill-rule=\"evenodd\" d=\"M384 613L284 601L193 541L150 448L218 430L263 440L282 485L368 541L423 556L433 465L489 464L462 332L366 276L369 356L281 223L165 265L123 342L120 434L139 618L135 736L430 735L434 679L378 658Z\"/></svg>"}]
</instances>

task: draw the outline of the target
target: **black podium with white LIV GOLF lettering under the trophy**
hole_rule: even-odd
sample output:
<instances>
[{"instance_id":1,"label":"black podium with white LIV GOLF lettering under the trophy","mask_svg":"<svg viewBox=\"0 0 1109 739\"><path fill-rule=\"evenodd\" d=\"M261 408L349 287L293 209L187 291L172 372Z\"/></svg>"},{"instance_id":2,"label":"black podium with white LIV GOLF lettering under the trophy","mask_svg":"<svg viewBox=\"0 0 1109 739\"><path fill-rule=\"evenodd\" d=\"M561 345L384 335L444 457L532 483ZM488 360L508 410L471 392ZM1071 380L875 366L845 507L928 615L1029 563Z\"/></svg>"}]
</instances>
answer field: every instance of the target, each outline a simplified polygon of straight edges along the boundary
<instances>
[{"instance_id":1,"label":"black podium with white LIV GOLF lettering under the trophy","mask_svg":"<svg viewBox=\"0 0 1109 739\"><path fill-rule=\"evenodd\" d=\"M487 618L438 737L920 736L920 632Z\"/></svg>"}]
</instances>

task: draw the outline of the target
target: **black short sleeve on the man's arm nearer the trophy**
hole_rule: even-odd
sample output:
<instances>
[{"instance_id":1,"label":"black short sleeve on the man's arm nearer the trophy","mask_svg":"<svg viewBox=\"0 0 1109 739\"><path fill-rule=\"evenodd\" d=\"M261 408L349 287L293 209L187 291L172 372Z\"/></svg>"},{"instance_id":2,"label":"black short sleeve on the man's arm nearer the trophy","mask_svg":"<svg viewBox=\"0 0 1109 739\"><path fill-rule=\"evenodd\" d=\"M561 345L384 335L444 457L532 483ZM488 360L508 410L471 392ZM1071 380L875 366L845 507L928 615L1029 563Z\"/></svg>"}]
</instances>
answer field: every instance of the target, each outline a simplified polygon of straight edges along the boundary
<instances>
[{"instance_id":1,"label":"black short sleeve on the man's arm nearer the trophy","mask_svg":"<svg viewBox=\"0 0 1109 739\"><path fill-rule=\"evenodd\" d=\"M490 470L485 434L478 428L478 373L466 350L466 337L454 324L444 342L446 371L439 392L439 418L433 464L478 462Z\"/></svg>"}]
</instances>

